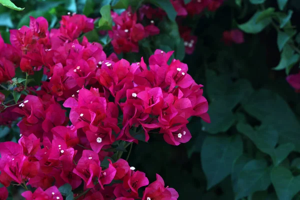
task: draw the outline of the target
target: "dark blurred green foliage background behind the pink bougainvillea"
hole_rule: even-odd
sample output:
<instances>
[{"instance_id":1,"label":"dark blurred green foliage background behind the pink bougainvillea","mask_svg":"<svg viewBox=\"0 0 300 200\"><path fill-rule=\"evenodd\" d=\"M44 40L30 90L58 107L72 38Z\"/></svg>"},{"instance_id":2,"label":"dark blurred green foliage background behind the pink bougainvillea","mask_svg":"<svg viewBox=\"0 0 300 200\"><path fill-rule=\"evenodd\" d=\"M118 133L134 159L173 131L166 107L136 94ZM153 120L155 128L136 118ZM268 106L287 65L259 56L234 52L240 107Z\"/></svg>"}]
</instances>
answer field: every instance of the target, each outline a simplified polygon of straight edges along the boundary
<instances>
[{"instance_id":1,"label":"dark blurred green foliage background behind the pink bougainvillea","mask_svg":"<svg viewBox=\"0 0 300 200\"><path fill-rule=\"evenodd\" d=\"M298 32L300 1L288 0L282 10L276 0L260 0L264 8L253 1L225 0L215 12L185 18L181 24L193 27L198 38L190 55L184 55L178 27L168 18L159 22L159 35L140 42L138 53L118 55L134 62L141 55L147 59L148 47L152 52L174 49L175 58L187 63L189 74L204 85L211 123L191 118L188 143L171 146L157 135L147 143L134 144L128 160L150 181L159 173L178 191L179 199L300 199L300 94L286 82L286 71L273 69L282 51L277 31L266 24L255 34L245 33L242 44L227 46L221 41L225 30L237 28L257 10L270 7L285 14L291 10L287 20ZM99 17L100 8L110 0L13 2L25 9L18 12L0 6L0 32L5 42L9 42L8 30L27 25L29 16L44 16L52 28L67 12ZM133 9L138 3L129 1ZM300 40L295 35L292 42L297 47ZM101 42L106 54L112 52L107 36L89 33L87 37ZM288 62L290 57L286 57ZM287 62L283 68L288 66L288 73L296 73L298 59ZM16 140L17 131L16 127L1 127L1 140Z\"/></svg>"}]
</instances>

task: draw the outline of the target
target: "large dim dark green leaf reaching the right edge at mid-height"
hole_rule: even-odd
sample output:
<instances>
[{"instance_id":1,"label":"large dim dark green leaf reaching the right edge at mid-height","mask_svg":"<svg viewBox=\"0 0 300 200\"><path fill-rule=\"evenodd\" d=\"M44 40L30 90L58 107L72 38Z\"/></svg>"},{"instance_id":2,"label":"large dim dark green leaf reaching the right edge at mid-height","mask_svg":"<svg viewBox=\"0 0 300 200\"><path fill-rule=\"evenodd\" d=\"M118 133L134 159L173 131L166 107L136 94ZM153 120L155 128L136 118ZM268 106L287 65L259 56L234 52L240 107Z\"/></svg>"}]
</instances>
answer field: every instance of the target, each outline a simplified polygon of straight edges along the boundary
<instances>
[{"instance_id":1,"label":"large dim dark green leaf reaching the right edge at mid-height","mask_svg":"<svg viewBox=\"0 0 300 200\"><path fill-rule=\"evenodd\" d=\"M279 133L279 143L293 143L300 151L300 123L288 104L278 94L260 89L242 103L243 108L261 121L272 126ZM276 122L274 122L276 121Z\"/></svg>"}]
</instances>

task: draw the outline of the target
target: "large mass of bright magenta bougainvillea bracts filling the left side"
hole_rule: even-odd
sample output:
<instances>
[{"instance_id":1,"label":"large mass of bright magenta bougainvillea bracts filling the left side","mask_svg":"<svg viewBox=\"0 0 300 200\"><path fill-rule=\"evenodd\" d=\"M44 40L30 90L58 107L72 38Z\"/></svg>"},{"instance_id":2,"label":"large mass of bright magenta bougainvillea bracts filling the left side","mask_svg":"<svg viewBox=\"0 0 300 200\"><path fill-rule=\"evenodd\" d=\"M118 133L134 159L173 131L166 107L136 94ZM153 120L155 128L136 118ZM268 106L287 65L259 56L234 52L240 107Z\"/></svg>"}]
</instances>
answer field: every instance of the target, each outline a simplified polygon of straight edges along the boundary
<instances>
[{"instance_id":1,"label":"large mass of bright magenta bougainvillea bracts filling the left side","mask_svg":"<svg viewBox=\"0 0 300 200\"><path fill-rule=\"evenodd\" d=\"M118 17L131 20L126 12L114 20ZM116 24L113 31L136 42L137 23ZM169 60L172 51L157 49L147 66L142 57L129 63L114 53L106 56L99 43L77 40L92 29L93 19L80 14L62 16L60 28L50 31L43 17L30 17L29 27L10 30L11 45L0 37L0 83L11 82L16 67L27 74L42 70L47 78L40 87L15 87L27 95L14 106L7 107L0 95L0 124L21 117L18 143L0 144L0 183L36 188L23 192L25 199L62 199L61 185L75 189L83 182L85 193L75 193L76 199L133 200L146 186L143 200L175 200L178 193L165 187L158 174L149 184L145 173L123 159L110 161L108 167L100 166L100 160L112 155L106 149L113 142L137 143L137 133L145 141L149 134L161 134L172 145L187 142L187 118L209 122L202 85L187 73L186 64ZM5 187L0 197L7 197Z\"/></svg>"}]
</instances>

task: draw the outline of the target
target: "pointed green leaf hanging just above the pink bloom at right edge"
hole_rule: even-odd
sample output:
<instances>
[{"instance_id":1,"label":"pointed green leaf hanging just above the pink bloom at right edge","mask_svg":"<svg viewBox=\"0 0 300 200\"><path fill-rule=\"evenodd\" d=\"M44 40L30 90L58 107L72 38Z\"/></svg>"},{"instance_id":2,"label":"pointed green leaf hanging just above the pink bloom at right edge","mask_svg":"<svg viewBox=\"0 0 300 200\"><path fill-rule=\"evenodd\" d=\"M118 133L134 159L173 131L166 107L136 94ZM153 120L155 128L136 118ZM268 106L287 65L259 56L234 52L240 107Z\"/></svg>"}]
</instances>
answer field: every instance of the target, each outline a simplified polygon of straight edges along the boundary
<instances>
[{"instance_id":1,"label":"pointed green leaf hanging just above the pink bloom at right edge","mask_svg":"<svg viewBox=\"0 0 300 200\"><path fill-rule=\"evenodd\" d=\"M289 45L284 45L280 55L279 64L274 67L274 70L281 70L294 65L299 60L299 54L294 53L294 50Z\"/></svg>"}]
</instances>

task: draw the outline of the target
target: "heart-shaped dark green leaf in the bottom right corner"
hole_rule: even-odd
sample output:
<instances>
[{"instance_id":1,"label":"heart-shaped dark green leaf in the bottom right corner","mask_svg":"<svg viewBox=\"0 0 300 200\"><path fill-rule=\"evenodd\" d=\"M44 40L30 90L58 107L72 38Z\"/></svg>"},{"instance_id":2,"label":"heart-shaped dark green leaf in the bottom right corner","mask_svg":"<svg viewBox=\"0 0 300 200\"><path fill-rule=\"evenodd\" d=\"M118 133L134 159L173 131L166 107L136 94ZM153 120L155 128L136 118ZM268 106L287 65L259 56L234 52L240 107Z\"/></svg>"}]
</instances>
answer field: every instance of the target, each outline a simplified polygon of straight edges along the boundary
<instances>
[{"instance_id":1,"label":"heart-shaped dark green leaf in the bottom right corner","mask_svg":"<svg viewBox=\"0 0 300 200\"><path fill-rule=\"evenodd\" d=\"M291 200L300 190L300 176L293 176L290 170L282 166L272 169L271 181L279 200Z\"/></svg>"}]
</instances>

